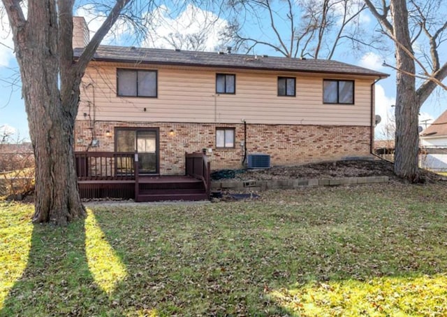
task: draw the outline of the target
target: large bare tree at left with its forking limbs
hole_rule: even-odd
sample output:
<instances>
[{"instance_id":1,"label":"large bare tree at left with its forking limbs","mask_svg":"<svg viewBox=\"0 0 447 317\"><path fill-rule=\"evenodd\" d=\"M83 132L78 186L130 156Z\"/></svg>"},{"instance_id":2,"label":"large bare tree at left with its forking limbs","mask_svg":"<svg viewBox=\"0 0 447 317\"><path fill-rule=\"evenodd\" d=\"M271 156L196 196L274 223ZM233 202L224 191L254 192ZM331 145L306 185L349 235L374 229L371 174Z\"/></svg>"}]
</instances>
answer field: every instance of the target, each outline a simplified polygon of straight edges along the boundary
<instances>
[{"instance_id":1,"label":"large bare tree at left with its forking limbs","mask_svg":"<svg viewBox=\"0 0 447 317\"><path fill-rule=\"evenodd\" d=\"M81 78L99 43L131 0L115 1L76 63L72 47L74 0L1 1L13 31L36 158L33 220L65 225L85 216L73 155Z\"/></svg>"}]
</instances>

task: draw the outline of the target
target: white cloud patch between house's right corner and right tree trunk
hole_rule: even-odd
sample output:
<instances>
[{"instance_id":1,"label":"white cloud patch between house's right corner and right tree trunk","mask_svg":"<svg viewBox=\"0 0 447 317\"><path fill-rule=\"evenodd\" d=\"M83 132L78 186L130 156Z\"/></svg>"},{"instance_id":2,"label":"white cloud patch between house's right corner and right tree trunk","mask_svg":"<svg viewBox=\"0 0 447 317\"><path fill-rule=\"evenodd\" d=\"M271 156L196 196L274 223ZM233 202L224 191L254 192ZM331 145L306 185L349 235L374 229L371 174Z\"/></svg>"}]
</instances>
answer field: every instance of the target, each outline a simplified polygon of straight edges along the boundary
<instances>
[{"instance_id":1,"label":"white cloud patch between house's right corner and right tree trunk","mask_svg":"<svg viewBox=\"0 0 447 317\"><path fill-rule=\"evenodd\" d=\"M392 134L390 129L387 130L387 125L393 125L394 107L392 106L395 105L396 99L386 96L383 86L379 84L375 85L374 97L376 101L376 115L381 116L381 122L375 128L376 139L394 139L394 136L390 135Z\"/></svg>"}]
</instances>

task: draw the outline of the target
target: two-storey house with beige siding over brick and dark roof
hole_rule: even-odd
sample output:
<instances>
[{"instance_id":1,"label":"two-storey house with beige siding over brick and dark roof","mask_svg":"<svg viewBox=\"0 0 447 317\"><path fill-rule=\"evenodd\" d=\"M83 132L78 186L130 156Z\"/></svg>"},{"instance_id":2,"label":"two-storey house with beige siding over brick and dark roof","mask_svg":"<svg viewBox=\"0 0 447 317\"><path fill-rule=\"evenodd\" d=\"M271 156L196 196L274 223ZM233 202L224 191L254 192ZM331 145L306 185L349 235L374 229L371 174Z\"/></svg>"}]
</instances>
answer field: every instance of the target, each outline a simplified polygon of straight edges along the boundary
<instances>
[{"instance_id":1,"label":"two-storey house with beige siding over brick and dark roof","mask_svg":"<svg viewBox=\"0 0 447 317\"><path fill-rule=\"evenodd\" d=\"M74 25L76 59L89 32L82 17ZM212 169L255 153L271 165L368 157L374 84L386 76L332 60L101 45L82 80L75 150L137 151L140 174L161 176L184 174L185 153L202 151Z\"/></svg>"}]
</instances>

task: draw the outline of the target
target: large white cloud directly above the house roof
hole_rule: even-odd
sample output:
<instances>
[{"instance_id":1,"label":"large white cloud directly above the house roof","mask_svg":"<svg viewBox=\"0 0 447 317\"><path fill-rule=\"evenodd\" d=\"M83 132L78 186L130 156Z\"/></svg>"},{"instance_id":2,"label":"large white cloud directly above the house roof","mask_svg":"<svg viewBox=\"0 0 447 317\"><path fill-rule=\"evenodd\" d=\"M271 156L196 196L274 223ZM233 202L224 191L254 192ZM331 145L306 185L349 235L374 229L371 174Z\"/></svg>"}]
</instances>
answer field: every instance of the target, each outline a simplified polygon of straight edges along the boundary
<instances>
[{"instance_id":1,"label":"large white cloud directly above the house roof","mask_svg":"<svg viewBox=\"0 0 447 317\"><path fill-rule=\"evenodd\" d=\"M151 13L143 46L210 51L224 44L219 35L228 23L214 13L188 5L176 17L172 15L166 6Z\"/></svg>"}]
</instances>

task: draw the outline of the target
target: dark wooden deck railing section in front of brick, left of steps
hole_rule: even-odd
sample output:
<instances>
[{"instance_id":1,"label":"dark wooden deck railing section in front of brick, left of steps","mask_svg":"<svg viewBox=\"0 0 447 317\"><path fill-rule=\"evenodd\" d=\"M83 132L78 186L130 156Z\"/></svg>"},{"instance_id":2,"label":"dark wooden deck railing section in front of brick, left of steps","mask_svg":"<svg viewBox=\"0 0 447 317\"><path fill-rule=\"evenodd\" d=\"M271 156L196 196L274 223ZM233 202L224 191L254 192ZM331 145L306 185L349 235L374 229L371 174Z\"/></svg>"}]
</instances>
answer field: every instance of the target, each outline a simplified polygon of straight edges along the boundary
<instances>
[{"instance_id":1,"label":"dark wooden deck railing section in front of brick, left of steps","mask_svg":"<svg viewBox=\"0 0 447 317\"><path fill-rule=\"evenodd\" d=\"M133 152L75 152L75 165L79 181L135 178Z\"/></svg>"}]
</instances>

